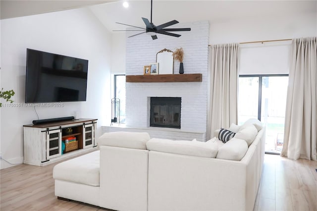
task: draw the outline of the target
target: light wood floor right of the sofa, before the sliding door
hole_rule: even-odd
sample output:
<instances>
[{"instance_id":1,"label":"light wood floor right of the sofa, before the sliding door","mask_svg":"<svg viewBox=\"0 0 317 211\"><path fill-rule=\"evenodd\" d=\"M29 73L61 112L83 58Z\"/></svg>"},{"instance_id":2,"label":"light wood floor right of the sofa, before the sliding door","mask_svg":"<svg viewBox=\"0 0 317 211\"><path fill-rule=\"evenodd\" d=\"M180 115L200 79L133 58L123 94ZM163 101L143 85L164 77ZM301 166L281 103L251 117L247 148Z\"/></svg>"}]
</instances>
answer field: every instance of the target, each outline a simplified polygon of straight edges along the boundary
<instances>
[{"instance_id":1,"label":"light wood floor right of the sofa, before the sliding door","mask_svg":"<svg viewBox=\"0 0 317 211\"><path fill-rule=\"evenodd\" d=\"M317 161L265 155L254 211L317 211Z\"/></svg>"}]
</instances>

